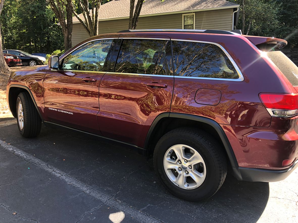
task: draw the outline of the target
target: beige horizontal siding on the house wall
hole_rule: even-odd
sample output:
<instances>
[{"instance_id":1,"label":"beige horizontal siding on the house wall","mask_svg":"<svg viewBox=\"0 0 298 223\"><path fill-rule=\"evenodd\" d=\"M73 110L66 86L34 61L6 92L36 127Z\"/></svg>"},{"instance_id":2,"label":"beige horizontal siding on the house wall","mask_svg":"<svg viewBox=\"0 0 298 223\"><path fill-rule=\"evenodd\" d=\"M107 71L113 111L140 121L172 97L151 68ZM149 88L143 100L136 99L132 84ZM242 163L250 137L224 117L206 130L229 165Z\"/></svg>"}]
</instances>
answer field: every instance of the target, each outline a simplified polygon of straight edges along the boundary
<instances>
[{"instance_id":1,"label":"beige horizontal siding on the house wall","mask_svg":"<svg viewBox=\"0 0 298 223\"><path fill-rule=\"evenodd\" d=\"M232 29L232 13L233 9L195 12L195 28L229 31ZM99 34L114 33L128 29L128 19L100 21L98 26ZM182 29L182 13L140 17L137 29ZM73 25L72 45L88 37L81 24Z\"/></svg>"}]
</instances>

